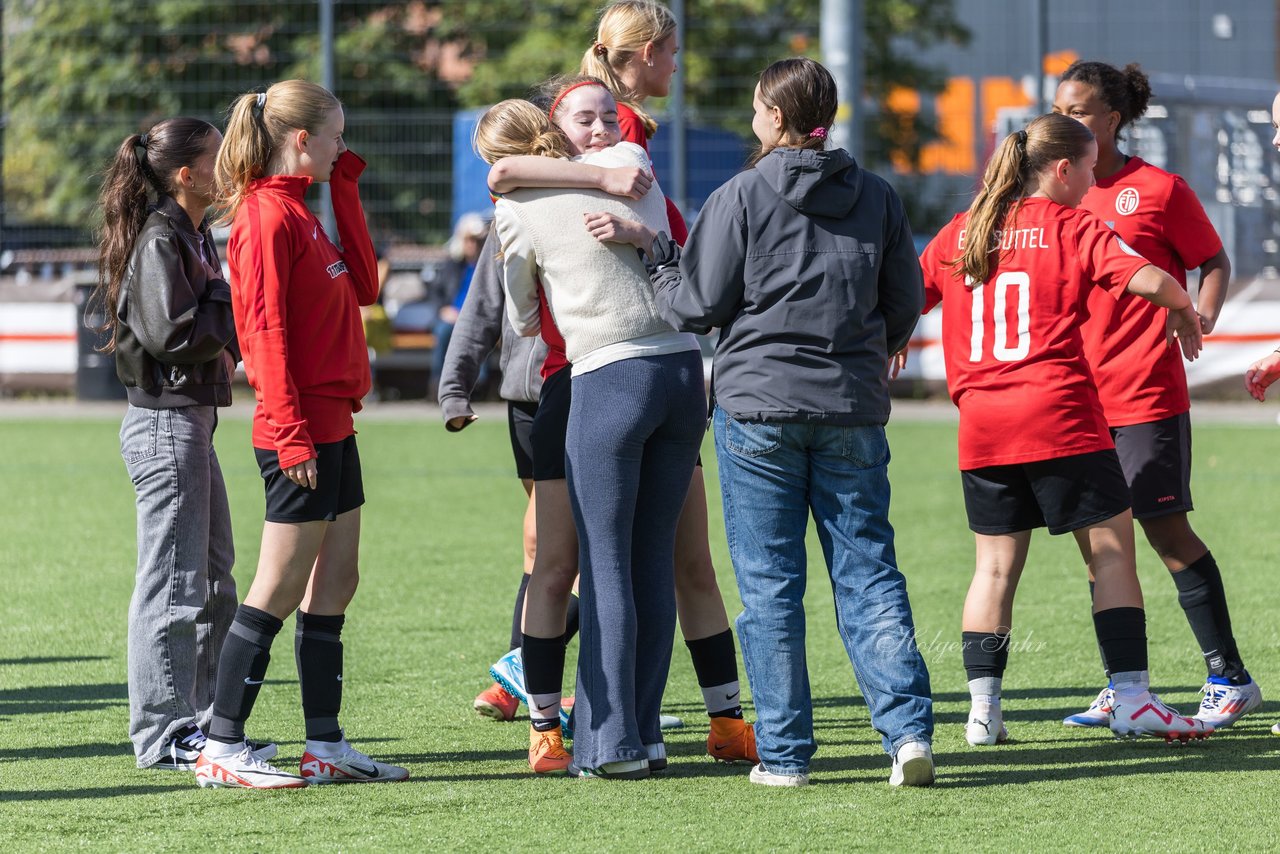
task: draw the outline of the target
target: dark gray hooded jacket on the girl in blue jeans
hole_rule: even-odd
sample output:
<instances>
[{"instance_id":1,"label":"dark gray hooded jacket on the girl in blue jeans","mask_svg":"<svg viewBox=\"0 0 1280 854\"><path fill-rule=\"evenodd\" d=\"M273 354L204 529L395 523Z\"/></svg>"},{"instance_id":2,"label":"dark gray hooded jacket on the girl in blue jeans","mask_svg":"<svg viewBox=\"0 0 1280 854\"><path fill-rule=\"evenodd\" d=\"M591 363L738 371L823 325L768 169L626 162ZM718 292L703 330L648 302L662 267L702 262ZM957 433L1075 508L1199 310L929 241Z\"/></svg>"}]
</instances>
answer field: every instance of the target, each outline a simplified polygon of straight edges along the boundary
<instances>
[{"instance_id":1,"label":"dark gray hooded jacket on the girl in blue jeans","mask_svg":"<svg viewBox=\"0 0 1280 854\"><path fill-rule=\"evenodd\" d=\"M712 392L726 412L888 420L888 356L911 337L924 283L884 179L840 149L774 149L712 193L678 265L660 243L658 310L681 330L719 326Z\"/></svg>"}]
</instances>

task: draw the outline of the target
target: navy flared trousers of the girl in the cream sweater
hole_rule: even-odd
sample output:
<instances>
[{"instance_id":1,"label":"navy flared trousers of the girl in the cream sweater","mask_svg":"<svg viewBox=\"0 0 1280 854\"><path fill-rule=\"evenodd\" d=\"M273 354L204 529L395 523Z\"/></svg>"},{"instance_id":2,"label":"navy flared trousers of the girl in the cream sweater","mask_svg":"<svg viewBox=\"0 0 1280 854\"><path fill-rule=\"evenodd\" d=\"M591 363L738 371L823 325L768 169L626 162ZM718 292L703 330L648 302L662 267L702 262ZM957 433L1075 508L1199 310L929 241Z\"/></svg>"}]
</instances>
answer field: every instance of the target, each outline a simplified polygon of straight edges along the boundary
<instances>
[{"instance_id":1,"label":"navy flared trousers of the girl in the cream sweater","mask_svg":"<svg viewBox=\"0 0 1280 854\"><path fill-rule=\"evenodd\" d=\"M676 632L676 521L707 428L696 351L627 359L573 378L566 466L579 535L573 758L640 759Z\"/></svg>"}]
</instances>

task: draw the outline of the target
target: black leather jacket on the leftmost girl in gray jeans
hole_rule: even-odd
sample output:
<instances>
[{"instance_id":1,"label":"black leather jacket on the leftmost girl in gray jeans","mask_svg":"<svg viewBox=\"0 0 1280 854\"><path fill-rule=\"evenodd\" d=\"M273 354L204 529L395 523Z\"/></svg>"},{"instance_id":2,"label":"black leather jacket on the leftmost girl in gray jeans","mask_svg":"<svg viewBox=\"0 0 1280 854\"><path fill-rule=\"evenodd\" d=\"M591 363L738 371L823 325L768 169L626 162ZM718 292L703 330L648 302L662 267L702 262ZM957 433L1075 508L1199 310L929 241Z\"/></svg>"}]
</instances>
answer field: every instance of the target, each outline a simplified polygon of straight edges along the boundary
<instances>
[{"instance_id":1,"label":"black leather jacket on the leftmost girl in gray jeans","mask_svg":"<svg viewBox=\"0 0 1280 854\"><path fill-rule=\"evenodd\" d=\"M207 223L165 196L151 207L120 283L115 374L148 410L229 406L239 353L232 288Z\"/></svg>"}]
</instances>

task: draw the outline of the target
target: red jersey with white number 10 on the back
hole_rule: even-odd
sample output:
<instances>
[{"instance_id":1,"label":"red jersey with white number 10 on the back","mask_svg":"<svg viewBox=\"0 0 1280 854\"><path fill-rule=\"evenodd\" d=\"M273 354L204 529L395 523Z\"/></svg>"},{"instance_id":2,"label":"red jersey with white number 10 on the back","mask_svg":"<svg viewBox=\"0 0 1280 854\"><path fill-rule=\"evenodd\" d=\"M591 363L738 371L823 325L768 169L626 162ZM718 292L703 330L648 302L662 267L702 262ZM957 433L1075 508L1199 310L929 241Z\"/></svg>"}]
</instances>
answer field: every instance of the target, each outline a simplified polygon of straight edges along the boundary
<instances>
[{"instance_id":1,"label":"red jersey with white number 10 on the back","mask_svg":"<svg viewBox=\"0 0 1280 854\"><path fill-rule=\"evenodd\" d=\"M924 310L942 303L947 388L960 408L960 469L1055 460L1115 447L1084 359L1092 291L1123 293L1147 265L1092 214L1027 198L989 278L965 287L948 261L968 214L929 243ZM1097 287L1096 287L1097 286Z\"/></svg>"}]
</instances>

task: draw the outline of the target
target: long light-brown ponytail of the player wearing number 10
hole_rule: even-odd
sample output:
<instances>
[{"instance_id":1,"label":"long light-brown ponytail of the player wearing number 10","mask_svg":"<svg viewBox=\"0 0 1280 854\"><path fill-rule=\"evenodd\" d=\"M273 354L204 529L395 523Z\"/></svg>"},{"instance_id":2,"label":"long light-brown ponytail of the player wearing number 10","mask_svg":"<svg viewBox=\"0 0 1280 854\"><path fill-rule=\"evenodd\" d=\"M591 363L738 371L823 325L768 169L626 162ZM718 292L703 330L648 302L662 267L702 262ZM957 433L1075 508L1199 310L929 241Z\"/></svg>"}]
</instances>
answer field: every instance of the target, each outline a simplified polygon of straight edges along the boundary
<instances>
[{"instance_id":1,"label":"long light-brown ponytail of the player wearing number 10","mask_svg":"<svg viewBox=\"0 0 1280 854\"><path fill-rule=\"evenodd\" d=\"M964 252L955 260L956 275L969 277L969 286L991 275L998 232L1012 228L1018 205L1037 189L1037 177L1059 160L1075 161L1084 155L1093 133L1065 115L1042 115L1025 131L1010 133L996 149L982 175L982 189L969 206ZM1007 222L1006 222L1007 220Z\"/></svg>"}]
</instances>

